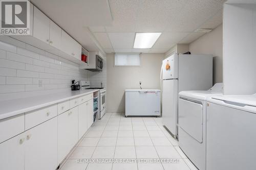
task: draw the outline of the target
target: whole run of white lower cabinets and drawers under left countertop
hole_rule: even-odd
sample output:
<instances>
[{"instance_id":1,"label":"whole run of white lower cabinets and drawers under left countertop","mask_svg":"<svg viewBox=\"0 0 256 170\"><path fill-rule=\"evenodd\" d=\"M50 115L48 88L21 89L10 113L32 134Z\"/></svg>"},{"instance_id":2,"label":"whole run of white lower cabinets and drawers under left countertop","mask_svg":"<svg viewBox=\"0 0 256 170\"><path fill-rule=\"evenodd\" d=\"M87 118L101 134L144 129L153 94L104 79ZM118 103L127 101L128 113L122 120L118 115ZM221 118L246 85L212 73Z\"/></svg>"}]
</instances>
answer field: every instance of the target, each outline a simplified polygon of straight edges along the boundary
<instances>
[{"instance_id":1,"label":"whole run of white lower cabinets and drawers under left countertop","mask_svg":"<svg viewBox=\"0 0 256 170\"><path fill-rule=\"evenodd\" d=\"M62 106L61 104L58 104L58 107ZM48 115L48 112L55 117L47 120L44 116ZM29 114L31 117L26 118L21 114L17 116L18 119L12 117L0 122L2 128L11 128L14 124L19 127L17 131L12 130L9 136L4 137L3 142L0 140L1 170L56 169L93 124L93 99L58 115L57 105ZM16 121L20 116L23 118L20 122L23 124L18 124ZM12 120L13 118L15 121ZM25 125L29 123L31 123L31 126L28 126L30 129L27 128L28 130L25 131Z\"/></svg>"}]
</instances>

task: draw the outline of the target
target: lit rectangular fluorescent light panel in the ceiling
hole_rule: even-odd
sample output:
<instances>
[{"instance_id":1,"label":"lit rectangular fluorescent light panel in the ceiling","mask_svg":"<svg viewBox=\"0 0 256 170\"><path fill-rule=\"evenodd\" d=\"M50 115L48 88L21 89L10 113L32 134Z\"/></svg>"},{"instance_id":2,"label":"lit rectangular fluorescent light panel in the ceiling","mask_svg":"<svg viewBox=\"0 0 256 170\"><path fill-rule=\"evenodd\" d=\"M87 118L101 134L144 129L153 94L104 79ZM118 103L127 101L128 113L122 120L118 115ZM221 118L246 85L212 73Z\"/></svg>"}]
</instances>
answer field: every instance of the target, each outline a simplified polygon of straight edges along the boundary
<instances>
[{"instance_id":1,"label":"lit rectangular fluorescent light panel in the ceiling","mask_svg":"<svg viewBox=\"0 0 256 170\"><path fill-rule=\"evenodd\" d=\"M152 48L162 33L136 33L133 48Z\"/></svg>"}]
</instances>

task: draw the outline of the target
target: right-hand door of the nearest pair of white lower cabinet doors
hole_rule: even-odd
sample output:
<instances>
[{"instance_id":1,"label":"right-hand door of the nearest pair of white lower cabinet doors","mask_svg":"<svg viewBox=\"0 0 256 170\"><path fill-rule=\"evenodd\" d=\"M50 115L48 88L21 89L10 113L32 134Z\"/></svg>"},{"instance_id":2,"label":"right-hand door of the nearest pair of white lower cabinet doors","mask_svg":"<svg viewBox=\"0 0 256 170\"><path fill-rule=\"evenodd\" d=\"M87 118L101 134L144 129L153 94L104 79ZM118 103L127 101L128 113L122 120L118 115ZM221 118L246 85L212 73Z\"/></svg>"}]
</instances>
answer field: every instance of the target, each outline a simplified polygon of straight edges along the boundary
<instances>
[{"instance_id":1,"label":"right-hand door of the nearest pair of white lower cabinet doors","mask_svg":"<svg viewBox=\"0 0 256 170\"><path fill-rule=\"evenodd\" d=\"M57 117L25 132L25 169L57 168Z\"/></svg>"}]
</instances>

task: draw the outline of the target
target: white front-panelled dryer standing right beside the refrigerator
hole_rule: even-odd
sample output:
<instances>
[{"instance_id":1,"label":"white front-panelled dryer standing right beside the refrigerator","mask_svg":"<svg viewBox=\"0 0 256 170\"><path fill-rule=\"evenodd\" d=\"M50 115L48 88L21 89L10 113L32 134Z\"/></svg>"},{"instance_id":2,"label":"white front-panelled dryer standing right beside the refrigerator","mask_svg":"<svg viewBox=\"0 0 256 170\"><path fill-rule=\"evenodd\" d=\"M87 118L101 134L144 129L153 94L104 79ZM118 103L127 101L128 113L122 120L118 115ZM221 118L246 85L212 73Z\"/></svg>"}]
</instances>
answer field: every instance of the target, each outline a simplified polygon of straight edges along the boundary
<instances>
[{"instance_id":1,"label":"white front-panelled dryer standing right beside the refrigerator","mask_svg":"<svg viewBox=\"0 0 256 170\"><path fill-rule=\"evenodd\" d=\"M217 83L209 90L179 93L179 147L200 170L206 169L206 99L222 89Z\"/></svg>"}]
</instances>

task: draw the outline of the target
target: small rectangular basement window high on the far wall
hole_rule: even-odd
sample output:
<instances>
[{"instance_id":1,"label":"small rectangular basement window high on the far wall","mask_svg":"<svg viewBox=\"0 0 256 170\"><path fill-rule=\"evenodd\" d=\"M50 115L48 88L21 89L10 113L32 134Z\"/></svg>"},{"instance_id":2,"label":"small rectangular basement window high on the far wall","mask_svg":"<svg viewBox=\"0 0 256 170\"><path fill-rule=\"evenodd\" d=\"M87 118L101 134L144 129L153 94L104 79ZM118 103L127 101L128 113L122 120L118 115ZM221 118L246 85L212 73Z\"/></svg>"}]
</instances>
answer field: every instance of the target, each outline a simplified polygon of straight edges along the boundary
<instances>
[{"instance_id":1,"label":"small rectangular basement window high on the far wall","mask_svg":"<svg viewBox=\"0 0 256 170\"><path fill-rule=\"evenodd\" d=\"M115 66L140 66L140 54L116 53Z\"/></svg>"}]
</instances>

